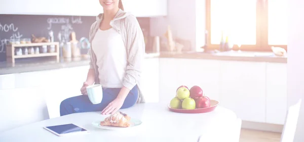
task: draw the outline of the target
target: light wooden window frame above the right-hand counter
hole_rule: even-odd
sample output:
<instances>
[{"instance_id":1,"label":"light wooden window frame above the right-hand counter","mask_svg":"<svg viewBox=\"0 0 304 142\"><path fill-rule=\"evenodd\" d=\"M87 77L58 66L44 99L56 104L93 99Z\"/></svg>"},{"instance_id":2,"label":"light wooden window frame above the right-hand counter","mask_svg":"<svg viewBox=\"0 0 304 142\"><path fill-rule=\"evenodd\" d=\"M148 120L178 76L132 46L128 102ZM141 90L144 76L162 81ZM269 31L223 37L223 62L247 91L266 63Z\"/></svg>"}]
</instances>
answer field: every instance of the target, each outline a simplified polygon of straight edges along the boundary
<instances>
[{"instance_id":1,"label":"light wooden window frame above the right-hand counter","mask_svg":"<svg viewBox=\"0 0 304 142\"><path fill-rule=\"evenodd\" d=\"M206 30L208 49L218 50L219 44L211 44L211 1L206 1ZM241 45L241 51L260 51L269 52L271 46L279 46L287 51L287 45L270 45L268 44L268 0L256 0L256 44ZM233 50L239 50L238 45L233 45Z\"/></svg>"}]
</instances>

